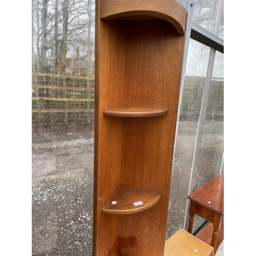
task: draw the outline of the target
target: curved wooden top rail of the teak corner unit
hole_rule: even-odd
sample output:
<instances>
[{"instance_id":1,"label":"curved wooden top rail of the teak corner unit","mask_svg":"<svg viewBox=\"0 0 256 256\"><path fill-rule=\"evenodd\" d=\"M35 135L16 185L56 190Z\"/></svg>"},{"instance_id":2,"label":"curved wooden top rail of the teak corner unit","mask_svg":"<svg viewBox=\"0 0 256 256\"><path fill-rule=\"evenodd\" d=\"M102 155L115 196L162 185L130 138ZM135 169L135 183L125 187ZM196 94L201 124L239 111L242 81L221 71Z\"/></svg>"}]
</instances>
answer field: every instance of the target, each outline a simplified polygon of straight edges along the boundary
<instances>
[{"instance_id":1,"label":"curved wooden top rail of the teak corner unit","mask_svg":"<svg viewBox=\"0 0 256 256\"><path fill-rule=\"evenodd\" d=\"M185 34L186 9L175 0L101 0L102 19L141 15L165 19Z\"/></svg>"}]
</instances>

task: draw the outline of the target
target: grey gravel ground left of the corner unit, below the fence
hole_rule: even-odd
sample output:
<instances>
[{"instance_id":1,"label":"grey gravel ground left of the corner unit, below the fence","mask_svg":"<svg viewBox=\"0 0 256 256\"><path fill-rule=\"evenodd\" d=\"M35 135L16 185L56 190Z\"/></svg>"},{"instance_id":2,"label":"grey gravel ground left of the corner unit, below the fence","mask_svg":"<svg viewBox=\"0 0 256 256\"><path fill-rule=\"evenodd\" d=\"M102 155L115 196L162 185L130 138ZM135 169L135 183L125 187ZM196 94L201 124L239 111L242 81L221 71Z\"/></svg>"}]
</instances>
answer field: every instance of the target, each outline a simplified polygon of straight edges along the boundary
<instances>
[{"instance_id":1,"label":"grey gravel ground left of the corner unit, below the fence","mask_svg":"<svg viewBox=\"0 0 256 256\"><path fill-rule=\"evenodd\" d=\"M32 255L92 255L93 136L32 138Z\"/></svg>"}]
</instances>

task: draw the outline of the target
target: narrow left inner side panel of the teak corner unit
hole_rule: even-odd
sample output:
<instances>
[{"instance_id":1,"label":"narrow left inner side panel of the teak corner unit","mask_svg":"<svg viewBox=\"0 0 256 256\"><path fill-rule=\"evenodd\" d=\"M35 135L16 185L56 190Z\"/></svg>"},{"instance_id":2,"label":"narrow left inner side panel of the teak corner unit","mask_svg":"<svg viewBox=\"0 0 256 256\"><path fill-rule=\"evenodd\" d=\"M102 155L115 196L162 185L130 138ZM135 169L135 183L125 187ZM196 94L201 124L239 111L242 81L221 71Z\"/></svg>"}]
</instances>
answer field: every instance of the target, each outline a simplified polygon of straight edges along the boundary
<instances>
[{"instance_id":1,"label":"narrow left inner side panel of the teak corner unit","mask_svg":"<svg viewBox=\"0 0 256 256\"><path fill-rule=\"evenodd\" d=\"M94 255L116 256L118 216L101 208L120 183L122 118L103 111L123 103L124 32L122 20L96 21Z\"/></svg>"}]
</instances>

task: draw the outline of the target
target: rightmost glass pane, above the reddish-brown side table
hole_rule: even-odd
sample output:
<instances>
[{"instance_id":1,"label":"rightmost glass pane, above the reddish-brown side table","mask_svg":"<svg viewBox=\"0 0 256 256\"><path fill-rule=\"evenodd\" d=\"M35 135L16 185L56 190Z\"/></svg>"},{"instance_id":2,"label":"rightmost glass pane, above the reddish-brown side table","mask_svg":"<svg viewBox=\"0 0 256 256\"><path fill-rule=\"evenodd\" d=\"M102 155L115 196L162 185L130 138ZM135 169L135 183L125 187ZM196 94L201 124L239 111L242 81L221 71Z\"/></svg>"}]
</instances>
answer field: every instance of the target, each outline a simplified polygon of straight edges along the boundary
<instances>
[{"instance_id":1,"label":"rightmost glass pane, above the reddish-brown side table","mask_svg":"<svg viewBox=\"0 0 256 256\"><path fill-rule=\"evenodd\" d=\"M199 152L195 190L221 173L224 151L224 54L216 52ZM222 170L223 172L223 170ZM196 230L205 220L195 217Z\"/></svg>"}]
</instances>

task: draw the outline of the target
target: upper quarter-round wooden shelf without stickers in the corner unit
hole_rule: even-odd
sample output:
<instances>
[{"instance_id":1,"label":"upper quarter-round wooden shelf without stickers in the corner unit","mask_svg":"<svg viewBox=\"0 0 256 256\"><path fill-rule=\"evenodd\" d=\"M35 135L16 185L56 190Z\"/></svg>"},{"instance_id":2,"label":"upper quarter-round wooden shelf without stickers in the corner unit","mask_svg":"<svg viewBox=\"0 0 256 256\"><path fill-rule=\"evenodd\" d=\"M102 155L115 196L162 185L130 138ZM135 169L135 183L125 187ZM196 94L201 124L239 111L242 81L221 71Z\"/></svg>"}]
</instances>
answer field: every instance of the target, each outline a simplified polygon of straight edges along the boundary
<instances>
[{"instance_id":1,"label":"upper quarter-round wooden shelf without stickers in the corner unit","mask_svg":"<svg viewBox=\"0 0 256 256\"><path fill-rule=\"evenodd\" d=\"M140 108L136 106L118 106L110 110L104 110L104 116L115 117L152 117L167 115L168 109Z\"/></svg>"}]
</instances>

